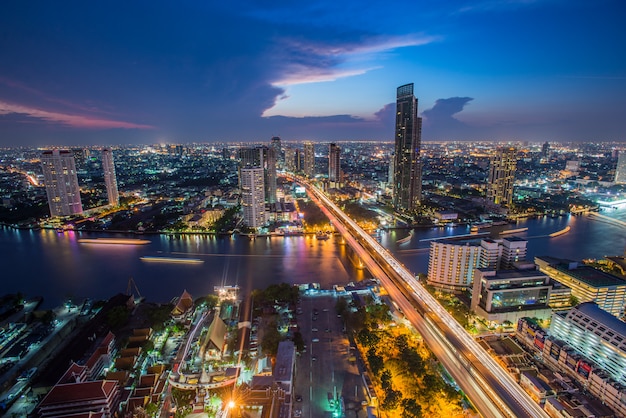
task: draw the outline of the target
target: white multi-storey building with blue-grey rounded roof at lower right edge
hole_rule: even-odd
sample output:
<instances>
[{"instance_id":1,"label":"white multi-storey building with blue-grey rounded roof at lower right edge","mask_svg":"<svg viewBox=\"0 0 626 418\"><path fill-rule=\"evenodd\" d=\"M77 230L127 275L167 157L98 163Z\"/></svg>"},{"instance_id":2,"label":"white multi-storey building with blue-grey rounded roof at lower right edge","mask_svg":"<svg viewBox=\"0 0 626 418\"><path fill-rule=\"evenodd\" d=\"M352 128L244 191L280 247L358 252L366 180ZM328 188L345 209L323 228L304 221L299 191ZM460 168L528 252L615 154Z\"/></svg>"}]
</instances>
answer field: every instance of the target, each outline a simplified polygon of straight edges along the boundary
<instances>
[{"instance_id":1,"label":"white multi-storey building with blue-grey rounded roof at lower right edge","mask_svg":"<svg viewBox=\"0 0 626 418\"><path fill-rule=\"evenodd\" d=\"M552 316L550 335L626 385L626 323L592 302Z\"/></svg>"}]
</instances>

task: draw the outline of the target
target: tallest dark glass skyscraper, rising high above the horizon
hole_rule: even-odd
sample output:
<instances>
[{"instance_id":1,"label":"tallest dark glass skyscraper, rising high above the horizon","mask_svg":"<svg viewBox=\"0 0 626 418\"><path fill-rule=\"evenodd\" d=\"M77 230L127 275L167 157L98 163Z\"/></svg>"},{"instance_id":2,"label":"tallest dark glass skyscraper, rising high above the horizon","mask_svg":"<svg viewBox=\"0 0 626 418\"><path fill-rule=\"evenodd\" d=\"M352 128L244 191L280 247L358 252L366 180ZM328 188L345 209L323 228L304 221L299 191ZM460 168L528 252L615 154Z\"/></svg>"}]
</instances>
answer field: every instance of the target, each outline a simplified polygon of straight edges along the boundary
<instances>
[{"instance_id":1,"label":"tallest dark glass skyscraper, rising high above the horizon","mask_svg":"<svg viewBox=\"0 0 626 418\"><path fill-rule=\"evenodd\" d=\"M417 207L422 193L422 170L419 163L422 118L417 116L413 83L396 91L396 146L393 175L393 206L410 211Z\"/></svg>"}]
</instances>

